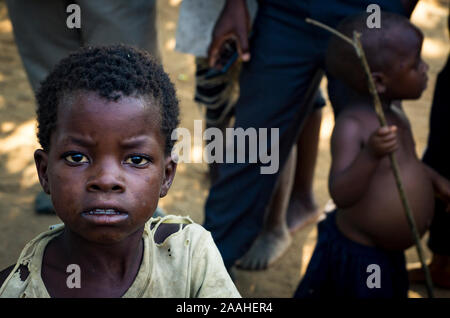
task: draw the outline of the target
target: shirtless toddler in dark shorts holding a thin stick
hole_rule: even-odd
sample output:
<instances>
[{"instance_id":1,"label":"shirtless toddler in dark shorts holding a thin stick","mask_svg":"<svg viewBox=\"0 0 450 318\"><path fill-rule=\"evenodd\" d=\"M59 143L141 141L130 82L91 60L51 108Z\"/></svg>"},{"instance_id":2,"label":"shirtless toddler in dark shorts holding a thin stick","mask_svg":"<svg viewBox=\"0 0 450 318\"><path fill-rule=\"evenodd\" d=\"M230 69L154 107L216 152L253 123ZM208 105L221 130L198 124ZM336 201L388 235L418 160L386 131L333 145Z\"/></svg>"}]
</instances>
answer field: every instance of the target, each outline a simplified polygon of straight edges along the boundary
<instances>
[{"instance_id":1,"label":"shirtless toddler in dark shorts holding a thin stick","mask_svg":"<svg viewBox=\"0 0 450 318\"><path fill-rule=\"evenodd\" d=\"M350 38L362 33L388 127L380 127L367 80L353 47L333 38L329 71L358 91L336 120L331 140L329 190L337 209L319 224L319 238L295 297L407 297L404 250L412 232L388 155L395 152L419 234L430 225L434 195L449 202L449 182L415 153L411 126L394 101L417 99L427 83L420 57L423 35L406 18L383 12L381 28L366 14L343 21Z\"/></svg>"}]
</instances>

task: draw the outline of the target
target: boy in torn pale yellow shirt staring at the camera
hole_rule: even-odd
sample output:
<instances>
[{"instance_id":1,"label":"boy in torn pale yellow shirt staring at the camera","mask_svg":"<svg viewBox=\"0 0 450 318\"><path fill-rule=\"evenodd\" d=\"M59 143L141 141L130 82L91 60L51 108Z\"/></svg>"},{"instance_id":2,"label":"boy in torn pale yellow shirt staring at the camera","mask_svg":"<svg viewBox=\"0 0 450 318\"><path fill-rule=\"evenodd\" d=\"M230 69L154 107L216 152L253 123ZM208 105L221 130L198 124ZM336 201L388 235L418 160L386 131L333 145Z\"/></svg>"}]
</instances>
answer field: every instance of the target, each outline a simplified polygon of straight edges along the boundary
<instances>
[{"instance_id":1,"label":"boy in torn pale yellow shirt staring at the camera","mask_svg":"<svg viewBox=\"0 0 450 318\"><path fill-rule=\"evenodd\" d=\"M83 48L37 100L39 181L64 225L0 274L0 297L239 297L209 232L150 219L176 169L178 100L160 65L126 46Z\"/></svg>"}]
</instances>

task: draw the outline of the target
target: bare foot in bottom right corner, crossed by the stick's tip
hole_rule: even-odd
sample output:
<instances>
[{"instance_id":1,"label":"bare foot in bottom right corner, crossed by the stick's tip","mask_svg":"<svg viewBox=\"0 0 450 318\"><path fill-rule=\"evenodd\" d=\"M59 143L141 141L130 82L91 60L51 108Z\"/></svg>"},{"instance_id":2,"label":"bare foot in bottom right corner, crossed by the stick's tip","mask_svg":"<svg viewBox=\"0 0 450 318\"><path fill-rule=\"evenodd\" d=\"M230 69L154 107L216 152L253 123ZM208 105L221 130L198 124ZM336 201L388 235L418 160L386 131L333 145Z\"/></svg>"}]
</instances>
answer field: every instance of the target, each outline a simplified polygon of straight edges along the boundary
<instances>
[{"instance_id":1,"label":"bare foot in bottom right corner, crossed by the stick's tip","mask_svg":"<svg viewBox=\"0 0 450 318\"><path fill-rule=\"evenodd\" d=\"M430 269L433 284L450 289L450 256L434 254L428 268ZM425 273L422 267L410 269L408 278L411 283L424 283Z\"/></svg>"}]
</instances>

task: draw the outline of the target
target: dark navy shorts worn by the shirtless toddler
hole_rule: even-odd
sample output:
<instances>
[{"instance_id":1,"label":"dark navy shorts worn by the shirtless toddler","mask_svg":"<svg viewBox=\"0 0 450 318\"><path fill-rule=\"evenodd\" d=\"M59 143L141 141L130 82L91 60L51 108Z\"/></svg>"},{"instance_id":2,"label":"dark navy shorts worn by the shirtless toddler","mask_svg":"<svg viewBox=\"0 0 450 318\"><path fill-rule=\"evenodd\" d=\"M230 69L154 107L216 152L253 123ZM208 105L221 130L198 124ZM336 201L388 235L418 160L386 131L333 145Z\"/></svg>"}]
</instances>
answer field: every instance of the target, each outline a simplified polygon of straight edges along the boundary
<instances>
[{"instance_id":1,"label":"dark navy shorts worn by the shirtless toddler","mask_svg":"<svg viewBox=\"0 0 450 318\"><path fill-rule=\"evenodd\" d=\"M319 237L295 298L406 298L403 252L361 245L336 226L336 211L318 225Z\"/></svg>"}]
</instances>

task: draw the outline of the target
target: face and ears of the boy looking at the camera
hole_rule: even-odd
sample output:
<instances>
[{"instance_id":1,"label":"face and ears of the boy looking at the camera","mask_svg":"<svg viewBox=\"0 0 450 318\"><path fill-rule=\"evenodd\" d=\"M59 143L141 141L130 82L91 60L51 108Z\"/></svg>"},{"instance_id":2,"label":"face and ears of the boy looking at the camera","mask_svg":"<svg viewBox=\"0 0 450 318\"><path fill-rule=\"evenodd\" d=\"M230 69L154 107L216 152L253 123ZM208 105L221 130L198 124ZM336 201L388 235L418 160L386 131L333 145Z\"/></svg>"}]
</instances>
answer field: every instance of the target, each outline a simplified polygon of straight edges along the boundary
<instances>
[{"instance_id":1,"label":"face and ears of the boy looking at the camera","mask_svg":"<svg viewBox=\"0 0 450 318\"><path fill-rule=\"evenodd\" d=\"M50 151L35 153L39 179L71 231L113 243L142 229L175 175L157 105L79 92L58 107Z\"/></svg>"}]
</instances>

